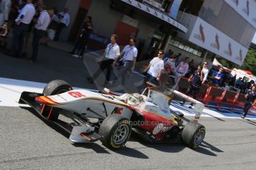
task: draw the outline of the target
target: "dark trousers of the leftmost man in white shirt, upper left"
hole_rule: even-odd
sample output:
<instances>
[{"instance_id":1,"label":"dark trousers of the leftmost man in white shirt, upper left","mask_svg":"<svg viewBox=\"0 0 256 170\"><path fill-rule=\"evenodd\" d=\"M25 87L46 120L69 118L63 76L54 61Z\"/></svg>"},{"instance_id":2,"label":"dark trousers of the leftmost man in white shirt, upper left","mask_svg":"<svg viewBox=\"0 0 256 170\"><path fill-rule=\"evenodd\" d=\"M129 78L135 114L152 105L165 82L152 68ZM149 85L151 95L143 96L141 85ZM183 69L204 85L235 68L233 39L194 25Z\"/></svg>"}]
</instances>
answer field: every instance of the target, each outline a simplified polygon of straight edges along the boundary
<instances>
[{"instance_id":1,"label":"dark trousers of the leftmost man in white shirt, upper left","mask_svg":"<svg viewBox=\"0 0 256 170\"><path fill-rule=\"evenodd\" d=\"M19 25L15 25L13 29L13 39L11 45L11 53L13 55L22 55L24 47L24 37L28 29L29 24L20 23Z\"/></svg>"}]
</instances>

